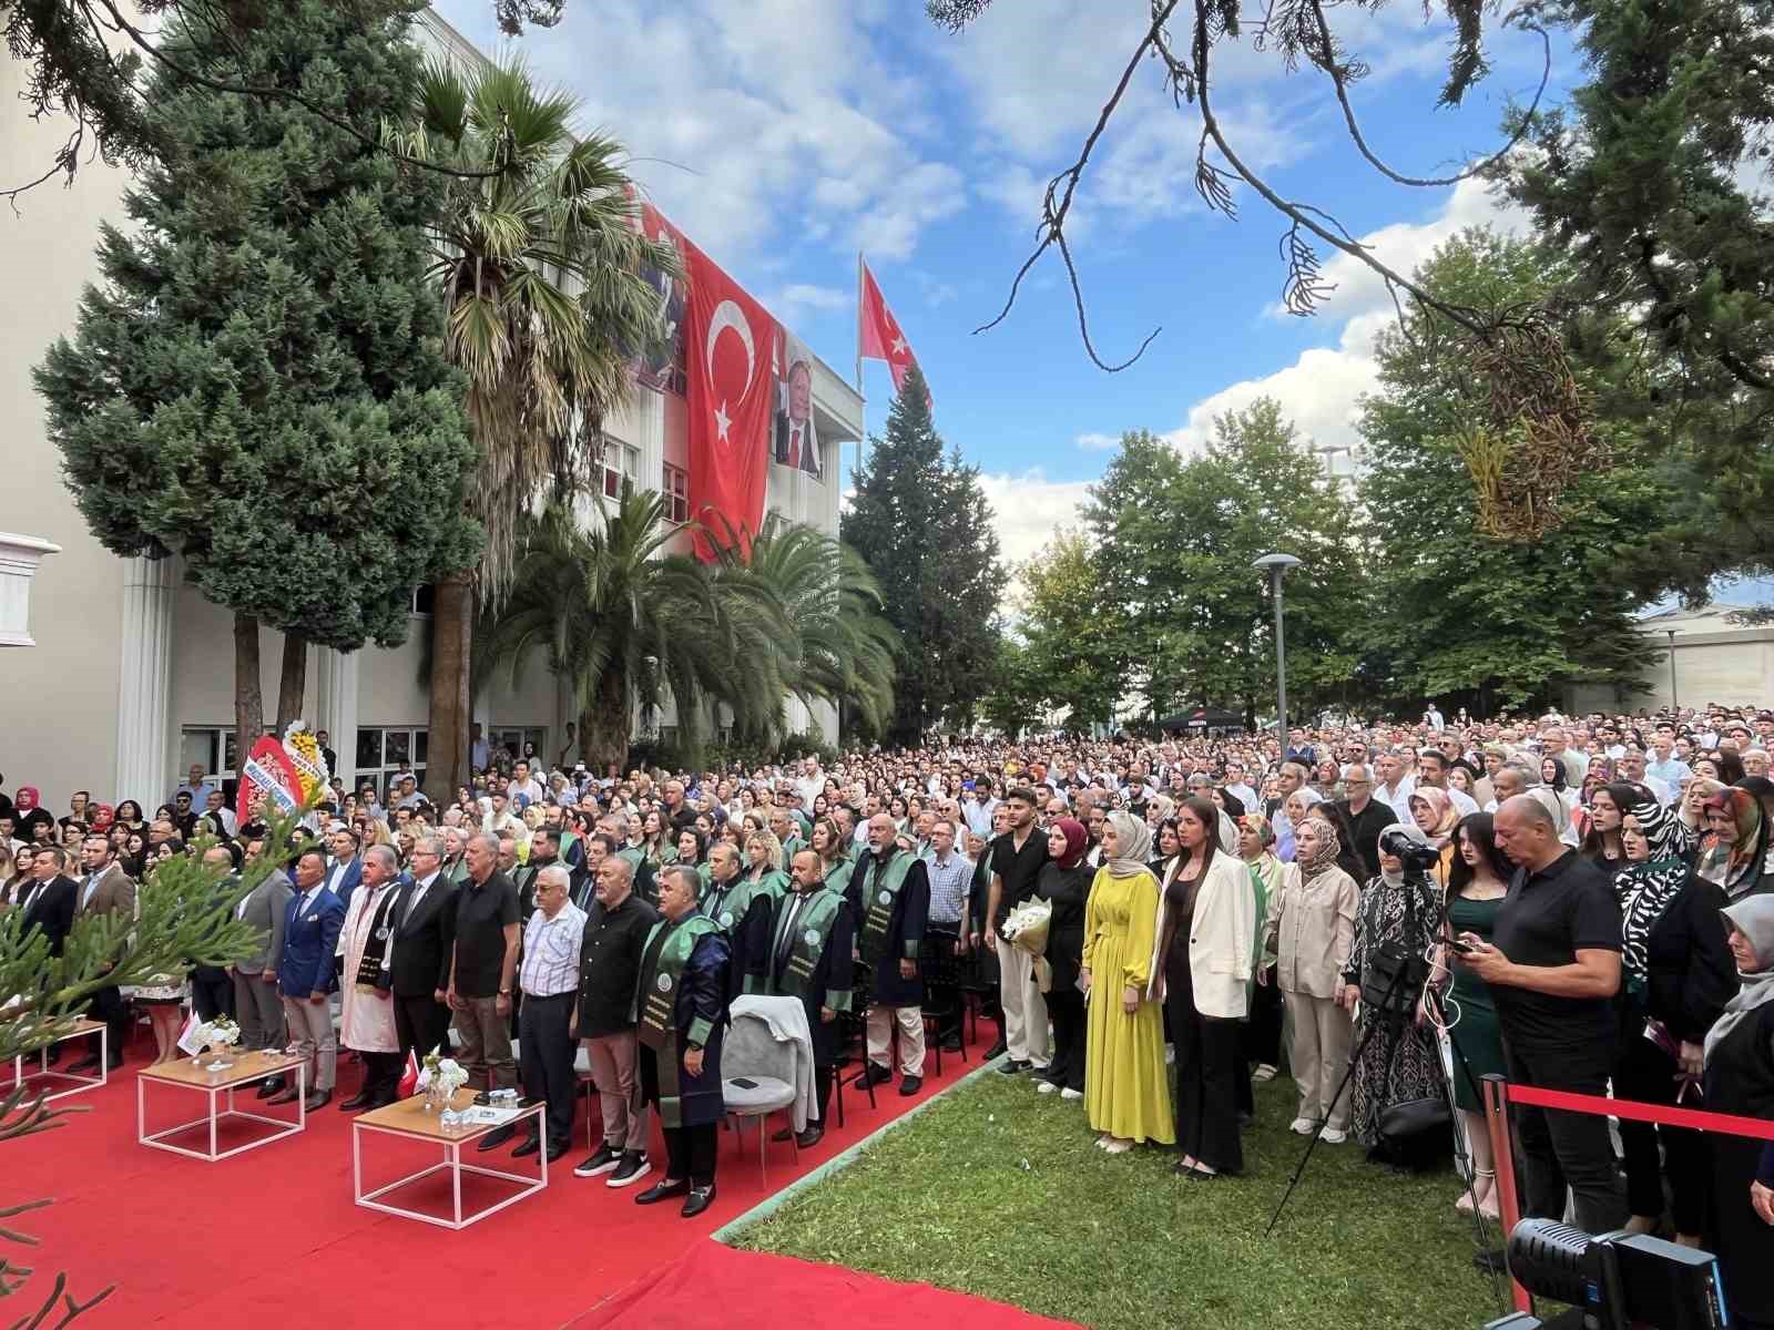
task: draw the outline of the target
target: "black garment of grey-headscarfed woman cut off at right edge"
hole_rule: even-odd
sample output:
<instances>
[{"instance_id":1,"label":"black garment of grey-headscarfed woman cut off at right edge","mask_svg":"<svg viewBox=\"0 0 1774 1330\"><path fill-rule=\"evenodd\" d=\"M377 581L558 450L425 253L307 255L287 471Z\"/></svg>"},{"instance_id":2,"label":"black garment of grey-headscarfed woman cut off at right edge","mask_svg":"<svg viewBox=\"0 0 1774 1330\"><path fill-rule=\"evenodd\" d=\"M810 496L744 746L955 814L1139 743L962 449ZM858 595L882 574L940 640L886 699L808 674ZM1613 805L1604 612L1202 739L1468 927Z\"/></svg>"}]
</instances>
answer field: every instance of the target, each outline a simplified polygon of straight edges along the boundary
<instances>
[{"instance_id":1,"label":"black garment of grey-headscarfed woman cut off at right edge","mask_svg":"<svg viewBox=\"0 0 1774 1330\"><path fill-rule=\"evenodd\" d=\"M1774 1117L1774 1002L1763 1002L1707 1057L1707 1108ZM1724 1270L1733 1319L1774 1323L1774 1229L1749 1204L1749 1183L1769 1142L1707 1133L1712 1147L1712 1225L1707 1245Z\"/></svg>"}]
</instances>

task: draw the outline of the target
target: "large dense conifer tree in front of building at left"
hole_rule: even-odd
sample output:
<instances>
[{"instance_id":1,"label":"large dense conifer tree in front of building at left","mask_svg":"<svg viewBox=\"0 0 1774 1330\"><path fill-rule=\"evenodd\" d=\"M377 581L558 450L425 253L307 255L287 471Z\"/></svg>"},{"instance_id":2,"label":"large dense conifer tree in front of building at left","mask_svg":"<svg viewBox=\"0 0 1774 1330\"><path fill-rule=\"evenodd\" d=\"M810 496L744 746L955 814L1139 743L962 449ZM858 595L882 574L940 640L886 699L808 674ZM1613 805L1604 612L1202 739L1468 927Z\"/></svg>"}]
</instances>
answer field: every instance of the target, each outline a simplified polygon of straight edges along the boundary
<instances>
[{"instance_id":1,"label":"large dense conifer tree in front of building at left","mask_svg":"<svg viewBox=\"0 0 1774 1330\"><path fill-rule=\"evenodd\" d=\"M245 44L174 34L184 60L302 89L330 119L156 76L135 225L103 229L105 284L35 372L94 536L181 555L234 610L241 752L263 727L261 622L286 633L287 724L305 642L399 644L413 587L479 548L461 379L419 257L440 179L365 142L417 87L408 23L401 4L302 0Z\"/></svg>"}]
</instances>

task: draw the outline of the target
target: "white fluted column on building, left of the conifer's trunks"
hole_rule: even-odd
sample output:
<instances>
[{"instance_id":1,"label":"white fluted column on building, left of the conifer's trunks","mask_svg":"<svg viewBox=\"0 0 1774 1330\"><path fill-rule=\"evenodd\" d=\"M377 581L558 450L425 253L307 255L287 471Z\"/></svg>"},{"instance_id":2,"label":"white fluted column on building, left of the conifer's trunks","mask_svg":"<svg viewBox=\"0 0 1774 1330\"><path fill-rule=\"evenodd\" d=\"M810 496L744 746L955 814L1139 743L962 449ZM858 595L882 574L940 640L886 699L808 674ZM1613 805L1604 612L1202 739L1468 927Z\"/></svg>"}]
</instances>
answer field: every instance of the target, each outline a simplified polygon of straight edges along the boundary
<instances>
[{"instance_id":1,"label":"white fluted column on building, left of the conifer's trunks","mask_svg":"<svg viewBox=\"0 0 1774 1330\"><path fill-rule=\"evenodd\" d=\"M172 559L130 559L122 571L117 670L117 784L112 800L153 809L172 771Z\"/></svg>"}]
</instances>

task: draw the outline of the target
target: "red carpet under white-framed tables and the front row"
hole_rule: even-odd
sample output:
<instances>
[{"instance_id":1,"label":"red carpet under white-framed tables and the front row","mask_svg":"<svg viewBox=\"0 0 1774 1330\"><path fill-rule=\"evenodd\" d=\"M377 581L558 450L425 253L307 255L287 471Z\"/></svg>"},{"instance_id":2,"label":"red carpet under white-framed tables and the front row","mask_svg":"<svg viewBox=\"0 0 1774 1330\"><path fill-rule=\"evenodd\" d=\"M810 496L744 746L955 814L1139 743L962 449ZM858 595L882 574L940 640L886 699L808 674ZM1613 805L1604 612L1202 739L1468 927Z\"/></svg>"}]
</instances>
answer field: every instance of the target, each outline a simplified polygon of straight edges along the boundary
<instances>
[{"instance_id":1,"label":"red carpet under white-framed tables and the front row","mask_svg":"<svg viewBox=\"0 0 1774 1330\"><path fill-rule=\"evenodd\" d=\"M82 1330L284 1326L316 1319L328 1330L553 1330L640 1275L669 1266L687 1248L710 1245L703 1238L713 1229L953 1084L977 1066L992 1032L981 1021L979 1043L969 1048L972 1060L963 1066L944 1055L942 1076L935 1075L935 1057L928 1057L924 1089L915 1098L901 1098L898 1084L889 1084L876 1087L878 1107L871 1110L860 1091L846 1089L846 1126L836 1126L834 1105L832 1130L802 1153L798 1169L789 1146L770 1146L768 1188L757 1177L750 1126L743 1149L733 1133L722 1133L718 1195L695 1220L681 1218L672 1202L635 1206L644 1185L612 1190L605 1177L573 1177L571 1167L585 1156L582 1105L573 1149L550 1169L548 1190L461 1232L353 1204L351 1117L334 1105L357 1089L358 1069L342 1057L339 1096L309 1117L300 1137L218 1163L138 1146L133 1073L142 1066L144 1032L110 1085L62 1101L90 1112L0 1144L0 1208L55 1197L48 1209L9 1220L35 1234L41 1247L7 1243L0 1254L41 1273L25 1296L7 1302L20 1312L27 1302L35 1307L48 1296L55 1271L67 1271L69 1291L82 1300L117 1284L105 1303L80 1318ZM149 1087L149 1130L202 1112L197 1094L172 1096ZM186 1098L190 1105L181 1103ZM442 1158L442 1151L426 1153L392 1137L365 1135L365 1186ZM656 1131L655 1158L663 1165ZM474 1160L470 1149L465 1162ZM513 1172L523 1163L507 1163L504 1149L491 1162ZM472 1197L465 1179L465 1208ZM397 1199L412 1204L412 1192Z\"/></svg>"}]
</instances>

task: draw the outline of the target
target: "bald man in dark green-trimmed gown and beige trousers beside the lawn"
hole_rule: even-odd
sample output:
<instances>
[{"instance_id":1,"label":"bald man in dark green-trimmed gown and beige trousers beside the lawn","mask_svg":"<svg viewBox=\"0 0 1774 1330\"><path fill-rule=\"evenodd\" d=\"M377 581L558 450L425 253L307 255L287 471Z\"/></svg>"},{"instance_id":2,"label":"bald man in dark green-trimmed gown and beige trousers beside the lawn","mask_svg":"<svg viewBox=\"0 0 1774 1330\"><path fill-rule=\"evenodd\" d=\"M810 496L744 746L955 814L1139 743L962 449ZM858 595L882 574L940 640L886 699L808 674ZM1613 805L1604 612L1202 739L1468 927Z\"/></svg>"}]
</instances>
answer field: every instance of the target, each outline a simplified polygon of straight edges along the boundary
<instances>
[{"instance_id":1,"label":"bald man in dark green-trimmed gown and beige trousers beside the lawn","mask_svg":"<svg viewBox=\"0 0 1774 1330\"><path fill-rule=\"evenodd\" d=\"M892 816L876 812L867 825L867 853L857 860L844 892L859 920L857 947L873 975L867 1014L869 1066L860 1085L892 1080L887 1064L889 1021L899 1027L899 1094L924 1087L924 979L917 958L930 920L930 876L924 860L899 849Z\"/></svg>"}]
</instances>

